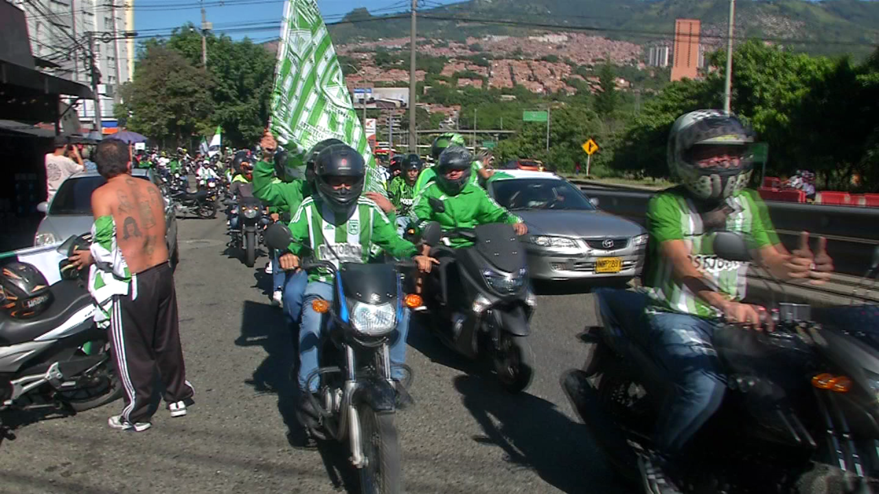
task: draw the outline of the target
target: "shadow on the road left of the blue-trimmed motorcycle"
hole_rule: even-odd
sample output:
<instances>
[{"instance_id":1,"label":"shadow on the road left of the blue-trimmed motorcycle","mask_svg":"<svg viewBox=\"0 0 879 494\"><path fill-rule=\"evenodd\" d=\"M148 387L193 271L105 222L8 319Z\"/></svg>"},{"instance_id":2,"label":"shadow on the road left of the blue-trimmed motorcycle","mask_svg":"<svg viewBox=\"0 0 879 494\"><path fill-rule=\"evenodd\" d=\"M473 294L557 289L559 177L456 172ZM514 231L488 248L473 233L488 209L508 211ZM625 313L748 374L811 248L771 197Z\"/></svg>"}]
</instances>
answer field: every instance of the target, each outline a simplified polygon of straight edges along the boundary
<instances>
[{"instance_id":1,"label":"shadow on the road left of the blue-trimmed motorcycle","mask_svg":"<svg viewBox=\"0 0 879 494\"><path fill-rule=\"evenodd\" d=\"M265 274L264 274L265 276ZM253 371L251 379L244 382L259 393L278 396L278 411L287 425L287 441L291 447L301 449L305 433L296 418L299 387L295 382L297 350L283 312L267 303L244 301L241 316L241 335L237 346L262 346L265 360ZM350 455L346 443L318 441L323 466L335 489L360 492L357 472L348 461Z\"/></svg>"}]
</instances>

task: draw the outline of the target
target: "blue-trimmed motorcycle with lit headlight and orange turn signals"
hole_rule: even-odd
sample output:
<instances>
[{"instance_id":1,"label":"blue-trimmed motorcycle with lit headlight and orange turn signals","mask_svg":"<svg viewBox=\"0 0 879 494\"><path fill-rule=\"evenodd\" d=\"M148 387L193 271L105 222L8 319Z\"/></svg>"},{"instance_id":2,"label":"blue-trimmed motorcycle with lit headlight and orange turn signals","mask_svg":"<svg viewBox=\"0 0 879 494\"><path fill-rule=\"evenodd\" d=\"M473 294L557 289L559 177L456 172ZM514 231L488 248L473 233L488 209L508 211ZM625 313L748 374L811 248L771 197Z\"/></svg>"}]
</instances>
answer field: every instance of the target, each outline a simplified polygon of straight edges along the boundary
<instances>
[{"instance_id":1,"label":"blue-trimmed motorcycle with lit headlight and orange turn signals","mask_svg":"<svg viewBox=\"0 0 879 494\"><path fill-rule=\"evenodd\" d=\"M272 249L286 251L293 240L287 226L275 223L265 233ZM311 434L319 440L348 441L351 461L360 474L364 494L401 492L400 440L395 425L396 391L391 378L389 340L402 315L403 304L418 307L418 295L403 296L398 271L411 261L390 264L342 263L305 260L309 271L334 273L337 296L316 300L312 307L327 314L321 357L324 367L309 374L310 385L320 380L319 400L309 395L320 414ZM403 366L411 385L412 370Z\"/></svg>"}]
</instances>

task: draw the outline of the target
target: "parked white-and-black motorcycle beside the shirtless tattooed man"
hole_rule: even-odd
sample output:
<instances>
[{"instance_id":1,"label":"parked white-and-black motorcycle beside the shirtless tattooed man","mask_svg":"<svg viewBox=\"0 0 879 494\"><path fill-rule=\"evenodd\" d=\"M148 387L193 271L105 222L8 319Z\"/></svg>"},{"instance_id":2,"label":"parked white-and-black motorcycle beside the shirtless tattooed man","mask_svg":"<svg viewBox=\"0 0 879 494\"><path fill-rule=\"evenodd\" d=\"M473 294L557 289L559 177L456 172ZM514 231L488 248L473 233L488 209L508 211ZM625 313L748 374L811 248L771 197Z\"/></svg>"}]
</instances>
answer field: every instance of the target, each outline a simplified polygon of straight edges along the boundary
<instances>
[{"instance_id":1,"label":"parked white-and-black motorcycle beside the shirtless tattooed man","mask_svg":"<svg viewBox=\"0 0 879 494\"><path fill-rule=\"evenodd\" d=\"M49 289L54 301L39 316L0 314L0 412L59 410L70 414L112 403L123 389L106 330L93 320L97 307L82 274L67 258L88 250L84 236L71 236L57 252L62 279ZM87 275L85 275L87 276ZM15 439L0 416L0 439Z\"/></svg>"}]
</instances>

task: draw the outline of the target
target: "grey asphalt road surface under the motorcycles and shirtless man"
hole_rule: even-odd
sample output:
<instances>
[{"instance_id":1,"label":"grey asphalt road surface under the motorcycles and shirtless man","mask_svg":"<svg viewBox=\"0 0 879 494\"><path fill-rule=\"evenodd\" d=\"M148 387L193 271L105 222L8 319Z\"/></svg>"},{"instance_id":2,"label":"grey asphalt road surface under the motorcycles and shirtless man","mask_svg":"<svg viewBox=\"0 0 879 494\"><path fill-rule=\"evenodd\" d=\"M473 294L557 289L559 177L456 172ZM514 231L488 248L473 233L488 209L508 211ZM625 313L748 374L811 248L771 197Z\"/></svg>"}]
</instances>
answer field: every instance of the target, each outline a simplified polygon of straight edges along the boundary
<instances>
[{"instance_id":1,"label":"grey asphalt road surface under the motorcycles and shirtless man","mask_svg":"<svg viewBox=\"0 0 879 494\"><path fill-rule=\"evenodd\" d=\"M118 432L121 402L41 418L0 446L0 492L355 492L344 446L294 449L292 343L264 293L265 257L250 269L225 253L224 222L181 220L176 274L186 370L197 403L162 407L148 432ZM544 287L544 292L582 292ZM410 493L624 492L593 450L559 387L583 363L575 338L587 296L542 294L532 323L537 374L511 396L479 366L413 327L416 405L397 415ZM30 416L28 416L30 417ZM39 418L39 417L34 417Z\"/></svg>"}]
</instances>

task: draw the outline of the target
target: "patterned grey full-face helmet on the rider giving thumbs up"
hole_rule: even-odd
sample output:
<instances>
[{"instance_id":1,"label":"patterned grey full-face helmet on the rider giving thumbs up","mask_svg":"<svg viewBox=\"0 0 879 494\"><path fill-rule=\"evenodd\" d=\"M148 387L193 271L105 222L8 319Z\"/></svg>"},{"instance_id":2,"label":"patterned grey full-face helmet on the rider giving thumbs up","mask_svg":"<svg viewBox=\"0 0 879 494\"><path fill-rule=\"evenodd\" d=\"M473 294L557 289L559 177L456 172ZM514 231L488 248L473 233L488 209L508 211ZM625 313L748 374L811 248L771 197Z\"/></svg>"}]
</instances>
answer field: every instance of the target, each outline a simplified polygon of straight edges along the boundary
<instances>
[{"instance_id":1,"label":"patterned grey full-face helmet on the rider giving thumbs up","mask_svg":"<svg viewBox=\"0 0 879 494\"><path fill-rule=\"evenodd\" d=\"M672 175L701 200L724 200L745 188L753 166L750 154L754 134L732 113L698 110L675 120L668 136L668 165ZM704 166L694 163L697 146L733 146L741 150L735 166Z\"/></svg>"}]
</instances>

